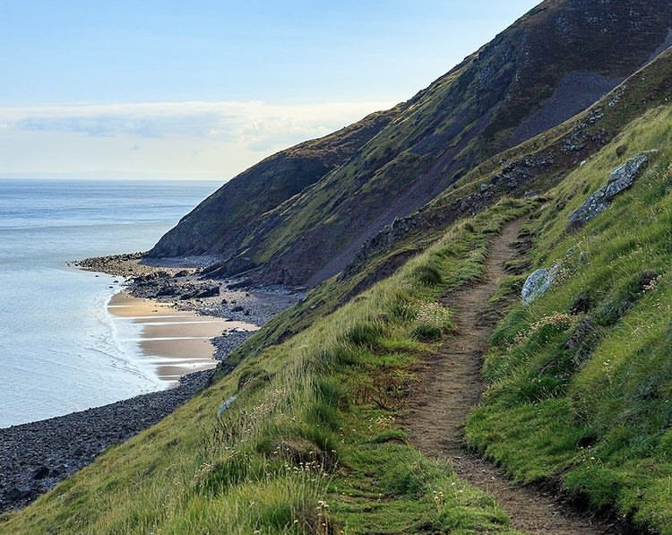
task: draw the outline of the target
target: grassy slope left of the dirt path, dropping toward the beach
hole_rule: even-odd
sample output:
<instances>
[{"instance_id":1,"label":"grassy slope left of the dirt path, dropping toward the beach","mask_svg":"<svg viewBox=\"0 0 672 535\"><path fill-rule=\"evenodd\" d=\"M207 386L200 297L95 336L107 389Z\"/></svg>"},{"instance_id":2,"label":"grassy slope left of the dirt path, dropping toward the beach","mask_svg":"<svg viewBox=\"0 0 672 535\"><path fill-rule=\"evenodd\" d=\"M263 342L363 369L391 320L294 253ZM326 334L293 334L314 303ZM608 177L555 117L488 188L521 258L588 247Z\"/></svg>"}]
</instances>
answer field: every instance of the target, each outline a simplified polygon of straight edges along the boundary
<instances>
[{"instance_id":1,"label":"grassy slope left of the dirt path, dropping toward the beach","mask_svg":"<svg viewBox=\"0 0 672 535\"><path fill-rule=\"evenodd\" d=\"M395 416L413 364L449 335L436 298L478 277L489 237L529 205L499 204L304 332L250 351L0 531L513 532L491 498L407 444Z\"/></svg>"}]
</instances>

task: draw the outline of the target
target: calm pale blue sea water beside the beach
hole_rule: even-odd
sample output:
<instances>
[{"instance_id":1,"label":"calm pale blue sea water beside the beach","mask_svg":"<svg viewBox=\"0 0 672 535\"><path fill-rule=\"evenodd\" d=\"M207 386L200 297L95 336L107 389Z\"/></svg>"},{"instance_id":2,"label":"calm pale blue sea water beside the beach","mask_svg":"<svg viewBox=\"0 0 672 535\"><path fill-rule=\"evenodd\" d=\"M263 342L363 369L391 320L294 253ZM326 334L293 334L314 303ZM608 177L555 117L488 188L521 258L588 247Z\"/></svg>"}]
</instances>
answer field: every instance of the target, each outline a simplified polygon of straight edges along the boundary
<instances>
[{"instance_id":1,"label":"calm pale blue sea water beside the beach","mask_svg":"<svg viewBox=\"0 0 672 535\"><path fill-rule=\"evenodd\" d=\"M0 427L164 387L115 332L120 284L66 263L149 249L218 186L0 179Z\"/></svg>"}]
</instances>

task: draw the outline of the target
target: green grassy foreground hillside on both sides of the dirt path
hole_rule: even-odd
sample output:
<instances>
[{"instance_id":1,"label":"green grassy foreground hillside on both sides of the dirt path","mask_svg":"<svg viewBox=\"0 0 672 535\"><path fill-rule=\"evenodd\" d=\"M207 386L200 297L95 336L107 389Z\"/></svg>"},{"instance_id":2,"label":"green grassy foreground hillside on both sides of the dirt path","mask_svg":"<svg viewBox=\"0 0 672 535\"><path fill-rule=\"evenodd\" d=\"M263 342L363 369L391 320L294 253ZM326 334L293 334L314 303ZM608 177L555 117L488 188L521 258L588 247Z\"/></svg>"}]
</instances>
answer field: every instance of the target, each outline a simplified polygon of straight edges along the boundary
<instances>
[{"instance_id":1,"label":"green grassy foreground hillside on both sides of the dirt path","mask_svg":"<svg viewBox=\"0 0 672 535\"><path fill-rule=\"evenodd\" d=\"M493 236L518 220L530 245L505 264L511 274L485 311L488 321L508 314L487 353L470 444L515 479L616 512L631 532L671 534L671 54L638 73L642 85L616 91L616 115L603 125L610 141L583 165L556 160L551 176L562 171L562 180L544 196L493 201L445 223L431 246L415 239L424 250L363 293L352 286L359 272L325 282L247 341L231 375L0 517L0 532L515 533L492 496L419 453L404 422L409 403L422 402L418 378L477 327L455 317L464 306L452 306L453 292L478 286ZM636 118L617 111L635 102ZM575 126L548 132L545 150L565 146ZM524 161L522 150L496 160ZM570 224L612 170L642 154L648 162L630 189ZM388 254L408 246L392 240ZM523 281L554 265L547 293L522 304ZM295 321L301 332L280 330ZM509 512L513 522L518 513Z\"/></svg>"}]
</instances>

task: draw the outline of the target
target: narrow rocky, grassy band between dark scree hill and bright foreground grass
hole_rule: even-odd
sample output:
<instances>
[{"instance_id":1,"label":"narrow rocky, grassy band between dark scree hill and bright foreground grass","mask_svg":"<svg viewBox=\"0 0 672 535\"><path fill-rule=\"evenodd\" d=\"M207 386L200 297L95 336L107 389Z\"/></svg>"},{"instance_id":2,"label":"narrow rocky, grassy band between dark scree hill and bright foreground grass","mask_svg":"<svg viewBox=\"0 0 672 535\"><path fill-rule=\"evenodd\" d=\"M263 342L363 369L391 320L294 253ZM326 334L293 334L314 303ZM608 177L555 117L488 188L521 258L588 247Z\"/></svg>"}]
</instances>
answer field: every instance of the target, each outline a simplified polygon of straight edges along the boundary
<instances>
[{"instance_id":1,"label":"narrow rocky, grassy band between dark scree hill and bright foreground grass","mask_svg":"<svg viewBox=\"0 0 672 535\"><path fill-rule=\"evenodd\" d=\"M451 81L446 79L445 82ZM388 233L383 233L379 239L383 246L368 253L366 261L351 264L347 277L323 282L307 296L303 306L271 320L263 335L249 341L245 350L234 359L241 358L249 350L258 351L284 340L312 324L316 317L331 314L349 298L356 296L360 289L368 288L372 281L389 275L395 266L442 237L449 221L461 219L470 211L484 210L489 203L512 190L520 196L530 189L538 193L547 192L564 179L567 169L590 159L603 148L605 142L614 140L624 125L669 99L672 99L672 50L633 74L621 86L571 120L504 151L470 171L431 203L409 216L411 225L408 233L392 236L392 239ZM577 139L583 144L582 150L567 151L565 147L577 142ZM535 161L547 164L535 165ZM522 169L527 178L518 176L517 186L511 186L507 180L498 179L512 173L505 169ZM496 186L483 194L481 186L484 185ZM462 209L461 203L465 199L472 202Z\"/></svg>"}]
</instances>

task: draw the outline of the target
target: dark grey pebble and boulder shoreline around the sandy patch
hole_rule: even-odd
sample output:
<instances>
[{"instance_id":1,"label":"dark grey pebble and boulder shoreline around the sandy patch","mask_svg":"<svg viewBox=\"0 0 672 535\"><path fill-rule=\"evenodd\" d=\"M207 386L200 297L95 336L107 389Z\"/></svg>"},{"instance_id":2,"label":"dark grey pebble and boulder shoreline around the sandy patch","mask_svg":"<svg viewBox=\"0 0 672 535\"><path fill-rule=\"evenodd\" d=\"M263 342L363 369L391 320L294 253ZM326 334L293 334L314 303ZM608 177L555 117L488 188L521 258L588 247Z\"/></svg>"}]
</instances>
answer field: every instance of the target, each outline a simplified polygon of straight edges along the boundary
<instances>
[{"instance_id":1,"label":"dark grey pebble and boulder shoreline around the sandy patch","mask_svg":"<svg viewBox=\"0 0 672 535\"><path fill-rule=\"evenodd\" d=\"M229 289L236 281L202 279L200 269L151 266L140 254L71 263L90 272L124 277L124 290L177 310L261 327L303 297L283 288ZM254 331L229 331L211 339L217 368ZM167 417L211 383L215 369L182 375L176 386L100 407L0 428L0 513L29 505L106 450ZM76 437L73 440L73 437Z\"/></svg>"}]
</instances>

